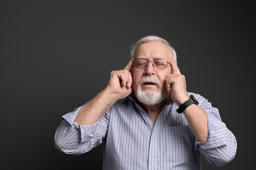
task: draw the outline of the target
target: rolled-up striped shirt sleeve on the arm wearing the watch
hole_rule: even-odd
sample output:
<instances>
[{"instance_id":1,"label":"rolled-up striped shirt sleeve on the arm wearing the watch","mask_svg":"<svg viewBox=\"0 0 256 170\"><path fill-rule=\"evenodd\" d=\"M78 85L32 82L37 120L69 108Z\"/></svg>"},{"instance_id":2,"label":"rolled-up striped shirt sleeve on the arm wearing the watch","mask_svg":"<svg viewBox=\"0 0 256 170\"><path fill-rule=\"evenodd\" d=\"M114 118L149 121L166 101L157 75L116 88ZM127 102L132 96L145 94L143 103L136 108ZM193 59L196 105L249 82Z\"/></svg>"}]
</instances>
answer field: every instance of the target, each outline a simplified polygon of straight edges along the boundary
<instances>
[{"instance_id":1,"label":"rolled-up striped shirt sleeve on the arm wearing the watch","mask_svg":"<svg viewBox=\"0 0 256 170\"><path fill-rule=\"evenodd\" d=\"M196 149L214 166L226 165L236 155L236 137L222 122L218 108L211 106L207 99L201 103L202 109L208 114L209 138L206 144L195 139Z\"/></svg>"}]
</instances>

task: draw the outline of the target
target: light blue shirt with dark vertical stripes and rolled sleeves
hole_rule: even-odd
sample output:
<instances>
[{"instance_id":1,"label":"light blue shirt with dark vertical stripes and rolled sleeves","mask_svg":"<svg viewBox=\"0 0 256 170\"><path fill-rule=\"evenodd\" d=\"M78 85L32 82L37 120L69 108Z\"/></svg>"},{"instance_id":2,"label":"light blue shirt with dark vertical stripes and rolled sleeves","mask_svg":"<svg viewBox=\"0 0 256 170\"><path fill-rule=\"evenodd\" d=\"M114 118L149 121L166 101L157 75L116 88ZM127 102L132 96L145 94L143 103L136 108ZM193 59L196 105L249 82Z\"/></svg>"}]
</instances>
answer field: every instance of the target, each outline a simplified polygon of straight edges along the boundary
<instances>
[{"instance_id":1,"label":"light blue shirt with dark vertical stripes and rolled sleeves","mask_svg":"<svg viewBox=\"0 0 256 170\"><path fill-rule=\"evenodd\" d=\"M209 139L197 141L177 104L166 102L155 126L132 93L118 100L96 123L74 123L79 108L62 116L55 147L80 155L105 142L103 170L201 170L202 155L214 166L223 166L236 155L234 134L221 121L218 108L199 94L188 92L208 114ZM104 139L104 140L103 140Z\"/></svg>"}]
</instances>

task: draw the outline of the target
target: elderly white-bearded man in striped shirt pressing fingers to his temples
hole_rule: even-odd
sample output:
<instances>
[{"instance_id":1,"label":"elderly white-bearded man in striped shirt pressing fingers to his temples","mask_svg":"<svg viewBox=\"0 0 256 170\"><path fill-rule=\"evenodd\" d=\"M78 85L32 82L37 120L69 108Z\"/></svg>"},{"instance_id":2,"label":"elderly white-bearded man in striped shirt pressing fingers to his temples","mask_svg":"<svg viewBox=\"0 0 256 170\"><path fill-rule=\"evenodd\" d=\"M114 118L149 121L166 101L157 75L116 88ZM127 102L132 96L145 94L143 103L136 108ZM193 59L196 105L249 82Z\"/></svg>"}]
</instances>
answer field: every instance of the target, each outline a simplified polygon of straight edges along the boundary
<instances>
[{"instance_id":1,"label":"elderly white-bearded man in striped shirt pressing fingers to his temples","mask_svg":"<svg viewBox=\"0 0 256 170\"><path fill-rule=\"evenodd\" d=\"M150 35L130 56L105 89L62 116L56 148L80 155L104 141L103 170L201 170L200 155L214 166L232 161L236 137L218 108L186 90L173 47Z\"/></svg>"}]
</instances>

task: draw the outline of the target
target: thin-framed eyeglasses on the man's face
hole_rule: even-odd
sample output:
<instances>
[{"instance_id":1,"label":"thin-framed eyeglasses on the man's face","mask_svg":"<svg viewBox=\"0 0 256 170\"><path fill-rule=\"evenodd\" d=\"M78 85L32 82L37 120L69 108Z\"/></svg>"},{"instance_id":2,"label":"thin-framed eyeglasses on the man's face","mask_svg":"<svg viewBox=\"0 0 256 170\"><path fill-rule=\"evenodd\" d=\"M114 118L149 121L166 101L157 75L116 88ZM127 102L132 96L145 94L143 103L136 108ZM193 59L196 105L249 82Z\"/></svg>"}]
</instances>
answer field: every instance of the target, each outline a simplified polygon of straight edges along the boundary
<instances>
[{"instance_id":1,"label":"thin-framed eyeglasses on the man's face","mask_svg":"<svg viewBox=\"0 0 256 170\"><path fill-rule=\"evenodd\" d=\"M137 59L133 60L132 64L136 68L145 68L146 66L148 66L148 62L152 62L153 67L155 67L156 69L164 69L168 66L168 64L170 64L170 62L166 62L163 59L155 59L153 61L148 61L148 60L143 59L143 58L137 58Z\"/></svg>"}]
</instances>

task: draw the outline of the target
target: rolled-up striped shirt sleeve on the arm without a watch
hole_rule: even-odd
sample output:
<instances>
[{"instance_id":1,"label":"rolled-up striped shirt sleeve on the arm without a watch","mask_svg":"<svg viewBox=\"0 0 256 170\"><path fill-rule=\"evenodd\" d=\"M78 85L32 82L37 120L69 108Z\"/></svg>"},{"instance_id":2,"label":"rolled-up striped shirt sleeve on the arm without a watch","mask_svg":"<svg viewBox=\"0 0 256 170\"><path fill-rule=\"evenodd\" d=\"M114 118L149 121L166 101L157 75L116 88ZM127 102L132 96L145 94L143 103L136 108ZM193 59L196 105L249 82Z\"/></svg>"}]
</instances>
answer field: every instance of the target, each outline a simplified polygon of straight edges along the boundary
<instances>
[{"instance_id":1,"label":"rolled-up striped shirt sleeve on the arm without a watch","mask_svg":"<svg viewBox=\"0 0 256 170\"><path fill-rule=\"evenodd\" d=\"M106 136L109 112L94 124L81 126L74 122L81 107L62 116L54 136L54 145L60 152L81 155L99 146Z\"/></svg>"}]
</instances>

